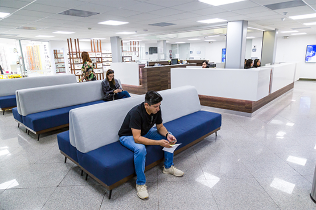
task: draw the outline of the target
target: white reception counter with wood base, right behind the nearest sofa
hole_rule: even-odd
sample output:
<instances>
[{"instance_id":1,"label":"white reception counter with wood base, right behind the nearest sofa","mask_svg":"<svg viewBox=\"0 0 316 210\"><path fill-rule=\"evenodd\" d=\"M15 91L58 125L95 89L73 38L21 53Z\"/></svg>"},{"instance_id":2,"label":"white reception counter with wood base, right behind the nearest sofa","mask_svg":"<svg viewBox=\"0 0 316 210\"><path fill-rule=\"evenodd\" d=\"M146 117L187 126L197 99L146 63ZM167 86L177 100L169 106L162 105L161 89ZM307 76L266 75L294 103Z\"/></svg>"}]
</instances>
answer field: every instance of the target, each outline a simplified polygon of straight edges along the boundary
<instances>
[{"instance_id":1,"label":"white reception counter with wood base, right behind the nearest sofa","mask_svg":"<svg viewBox=\"0 0 316 210\"><path fill-rule=\"evenodd\" d=\"M259 108L292 89L294 76L293 63L253 69L177 68L171 69L171 88L193 85L201 105L252 116Z\"/></svg>"}]
</instances>

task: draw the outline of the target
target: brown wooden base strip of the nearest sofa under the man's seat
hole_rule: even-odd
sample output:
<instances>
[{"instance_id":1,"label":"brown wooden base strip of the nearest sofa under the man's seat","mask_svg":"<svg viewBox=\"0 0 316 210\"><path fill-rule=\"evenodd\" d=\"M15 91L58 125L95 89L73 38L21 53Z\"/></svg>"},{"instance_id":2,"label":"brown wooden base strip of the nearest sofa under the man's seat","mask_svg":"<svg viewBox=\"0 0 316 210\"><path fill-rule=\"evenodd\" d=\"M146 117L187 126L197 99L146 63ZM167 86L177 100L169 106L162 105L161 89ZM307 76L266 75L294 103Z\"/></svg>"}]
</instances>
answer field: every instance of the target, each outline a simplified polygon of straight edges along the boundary
<instances>
[{"instance_id":1,"label":"brown wooden base strip of the nearest sofa under the man's seat","mask_svg":"<svg viewBox=\"0 0 316 210\"><path fill-rule=\"evenodd\" d=\"M206 137L208 137L209 135L211 135L211 134L213 134L213 133L216 133L216 132L217 132L218 130L220 130L220 129L221 129L221 127L219 127L219 128L217 128L217 129L211 131L210 133L208 133L208 134L202 136L201 138L198 138L198 139L195 140L195 141L192 141L190 144L185 145L184 147L182 147L182 148L180 148L180 149L174 151L174 155L176 155L176 154L178 154L178 153L180 153L180 152L186 150L187 148L191 147L192 145L194 145L194 144L196 144L196 143L202 141L203 139L205 139ZM217 135L217 133L216 133L216 135ZM84 169L81 165L79 165L79 163L77 163L75 160L73 160L72 158L70 158L67 154L65 154L65 153L62 152L62 151L60 151L60 153L63 154L66 158L70 159L70 160L71 160L72 162L74 162L76 165L78 165L78 166L79 166L84 172L86 172L90 177L94 178L95 181L97 181L98 183L100 183L100 184L101 184L102 186L104 186L106 189L110 190L109 199L111 198L112 189L114 189L114 188L120 186L121 184L127 182L128 180L130 180L130 179L132 179L133 177L136 176L136 173L131 174L131 175L129 175L129 176L127 176L127 177L121 179L120 181L118 181L118 182L116 182L116 183L114 183L114 184L108 186L108 185L106 185L105 183L103 183L100 179L98 179L97 177L95 177L93 174L91 174L89 171L87 171L86 169ZM154 163L152 163L152 164L150 164L150 165L147 165L147 166L145 167L145 171L147 171L147 170L151 169L152 167L158 165L158 164L161 163L163 160L164 160L164 158L162 158L162 159L160 159L160 160L157 160L156 162L154 162Z\"/></svg>"}]
</instances>

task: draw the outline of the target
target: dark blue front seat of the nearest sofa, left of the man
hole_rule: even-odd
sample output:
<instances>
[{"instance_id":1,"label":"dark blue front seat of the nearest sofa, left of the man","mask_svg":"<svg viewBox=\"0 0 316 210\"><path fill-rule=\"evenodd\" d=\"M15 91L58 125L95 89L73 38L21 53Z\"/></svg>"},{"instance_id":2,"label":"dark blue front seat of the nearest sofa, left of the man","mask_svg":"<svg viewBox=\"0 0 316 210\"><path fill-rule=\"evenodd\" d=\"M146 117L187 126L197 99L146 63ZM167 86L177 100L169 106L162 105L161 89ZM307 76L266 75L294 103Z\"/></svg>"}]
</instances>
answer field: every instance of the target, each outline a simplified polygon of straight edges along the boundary
<instances>
[{"instance_id":1,"label":"dark blue front seat of the nearest sofa, left of the man","mask_svg":"<svg viewBox=\"0 0 316 210\"><path fill-rule=\"evenodd\" d=\"M134 173L134 153L119 141L77 155L79 165L108 186Z\"/></svg>"}]
</instances>

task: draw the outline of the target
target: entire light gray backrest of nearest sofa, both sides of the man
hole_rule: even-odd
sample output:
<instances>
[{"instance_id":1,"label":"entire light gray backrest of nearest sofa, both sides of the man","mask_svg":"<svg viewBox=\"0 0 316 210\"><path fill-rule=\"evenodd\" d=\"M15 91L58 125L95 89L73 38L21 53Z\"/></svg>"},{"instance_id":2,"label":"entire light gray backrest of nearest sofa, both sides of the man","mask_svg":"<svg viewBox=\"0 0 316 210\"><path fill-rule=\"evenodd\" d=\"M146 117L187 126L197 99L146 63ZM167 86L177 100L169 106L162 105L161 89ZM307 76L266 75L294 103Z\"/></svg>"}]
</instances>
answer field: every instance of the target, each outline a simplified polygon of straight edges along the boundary
<instances>
[{"instance_id":1,"label":"entire light gray backrest of nearest sofa, both sides of the man","mask_svg":"<svg viewBox=\"0 0 316 210\"><path fill-rule=\"evenodd\" d=\"M197 91L193 86L178 87L159 92L163 122L201 110ZM188 98L190 97L190 98ZM110 101L70 110L70 143L80 152L87 153L119 141L119 129L128 111L141 104L144 95Z\"/></svg>"}]
</instances>

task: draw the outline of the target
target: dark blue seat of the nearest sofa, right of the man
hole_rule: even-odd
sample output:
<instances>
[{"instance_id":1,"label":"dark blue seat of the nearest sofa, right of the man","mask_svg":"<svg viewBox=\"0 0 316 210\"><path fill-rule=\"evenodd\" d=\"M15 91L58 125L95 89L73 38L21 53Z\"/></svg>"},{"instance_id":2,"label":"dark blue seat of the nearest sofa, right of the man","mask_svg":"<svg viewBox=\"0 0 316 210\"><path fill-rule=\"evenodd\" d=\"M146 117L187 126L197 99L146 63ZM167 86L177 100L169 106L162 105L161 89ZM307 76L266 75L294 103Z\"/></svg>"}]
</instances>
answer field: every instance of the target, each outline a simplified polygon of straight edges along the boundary
<instances>
[{"instance_id":1,"label":"dark blue seat of the nearest sofa, right of the man","mask_svg":"<svg viewBox=\"0 0 316 210\"><path fill-rule=\"evenodd\" d=\"M177 149L221 127L222 115L209 111L197 111L180 117L164 126L182 143Z\"/></svg>"}]
</instances>

